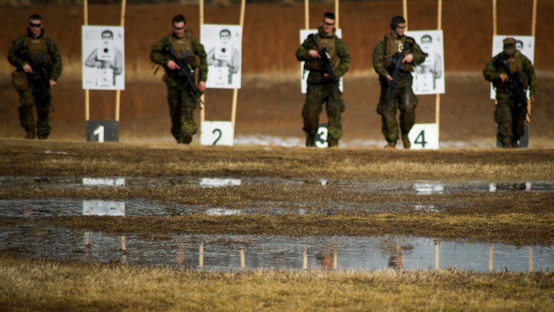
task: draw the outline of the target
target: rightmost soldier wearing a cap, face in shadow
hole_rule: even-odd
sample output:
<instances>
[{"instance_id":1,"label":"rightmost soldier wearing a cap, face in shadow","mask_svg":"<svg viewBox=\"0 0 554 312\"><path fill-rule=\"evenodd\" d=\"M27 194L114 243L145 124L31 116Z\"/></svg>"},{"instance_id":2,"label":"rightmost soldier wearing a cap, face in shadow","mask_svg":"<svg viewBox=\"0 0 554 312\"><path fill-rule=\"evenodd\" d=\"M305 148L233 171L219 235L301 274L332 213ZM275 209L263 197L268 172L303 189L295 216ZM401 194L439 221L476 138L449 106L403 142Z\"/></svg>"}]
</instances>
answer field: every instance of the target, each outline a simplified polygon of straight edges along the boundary
<instances>
[{"instance_id":1,"label":"rightmost soldier wearing a cap, face in shadow","mask_svg":"<svg viewBox=\"0 0 554 312\"><path fill-rule=\"evenodd\" d=\"M497 92L497 105L494 108L494 121L498 125L497 139L503 148L517 148L517 141L524 135L527 103L519 100L514 87L519 88L524 98L529 89L531 103L535 103L537 77L531 61L517 51L514 38L506 38L502 43L503 51L487 62L483 76Z\"/></svg>"}]
</instances>

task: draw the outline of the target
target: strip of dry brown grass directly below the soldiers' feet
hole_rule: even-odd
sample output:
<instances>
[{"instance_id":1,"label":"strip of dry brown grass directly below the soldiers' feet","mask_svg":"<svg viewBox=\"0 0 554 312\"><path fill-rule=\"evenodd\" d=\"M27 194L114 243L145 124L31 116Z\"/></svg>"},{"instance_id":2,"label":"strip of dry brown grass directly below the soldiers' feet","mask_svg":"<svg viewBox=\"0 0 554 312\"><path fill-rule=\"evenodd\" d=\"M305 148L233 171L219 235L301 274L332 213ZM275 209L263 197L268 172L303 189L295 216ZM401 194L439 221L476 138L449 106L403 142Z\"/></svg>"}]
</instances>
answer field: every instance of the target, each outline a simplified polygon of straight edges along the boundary
<instances>
[{"instance_id":1,"label":"strip of dry brown grass directly below the soldiers' feet","mask_svg":"<svg viewBox=\"0 0 554 312\"><path fill-rule=\"evenodd\" d=\"M268 176L348 180L554 180L552 150L264 148L0 141L3 175ZM56 152L46 154L46 151ZM57 153L62 152L63 154Z\"/></svg>"}]
</instances>

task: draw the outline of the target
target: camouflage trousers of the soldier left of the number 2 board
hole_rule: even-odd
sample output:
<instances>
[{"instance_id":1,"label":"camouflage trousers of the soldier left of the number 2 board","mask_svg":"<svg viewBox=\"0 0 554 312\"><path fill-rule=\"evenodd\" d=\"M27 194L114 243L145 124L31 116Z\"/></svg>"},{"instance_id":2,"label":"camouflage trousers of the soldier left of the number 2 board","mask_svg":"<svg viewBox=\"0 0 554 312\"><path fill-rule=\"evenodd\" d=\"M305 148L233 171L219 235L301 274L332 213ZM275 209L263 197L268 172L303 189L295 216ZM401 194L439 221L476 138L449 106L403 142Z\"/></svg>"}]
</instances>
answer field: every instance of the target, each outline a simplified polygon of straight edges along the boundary
<instances>
[{"instance_id":1,"label":"camouflage trousers of the soldier left of the number 2 board","mask_svg":"<svg viewBox=\"0 0 554 312\"><path fill-rule=\"evenodd\" d=\"M194 112L198 101L188 94L188 88L168 86L169 114L171 116L171 134L177 142L182 143L185 135L194 135L197 126Z\"/></svg>"}]
</instances>

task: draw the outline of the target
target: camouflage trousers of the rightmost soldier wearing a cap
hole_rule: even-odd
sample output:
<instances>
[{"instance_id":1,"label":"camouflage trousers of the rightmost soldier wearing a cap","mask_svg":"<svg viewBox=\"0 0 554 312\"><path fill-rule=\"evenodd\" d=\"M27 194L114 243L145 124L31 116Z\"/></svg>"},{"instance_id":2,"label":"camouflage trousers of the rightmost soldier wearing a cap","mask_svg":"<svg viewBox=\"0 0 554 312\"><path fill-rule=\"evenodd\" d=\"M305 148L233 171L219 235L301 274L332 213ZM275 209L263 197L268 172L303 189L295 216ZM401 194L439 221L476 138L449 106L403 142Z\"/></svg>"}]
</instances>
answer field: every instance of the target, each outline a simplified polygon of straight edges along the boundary
<instances>
[{"instance_id":1,"label":"camouflage trousers of the rightmost soldier wearing a cap","mask_svg":"<svg viewBox=\"0 0 554 312\"><path fill-rule=\"evenodd\" d=\"M494 121L498 125L497 139L503 147L510 147L512 141L523 137L525 113L515 104L515 96L497 92L497 105L494 107Z\"/></svg>"}]
</instances>

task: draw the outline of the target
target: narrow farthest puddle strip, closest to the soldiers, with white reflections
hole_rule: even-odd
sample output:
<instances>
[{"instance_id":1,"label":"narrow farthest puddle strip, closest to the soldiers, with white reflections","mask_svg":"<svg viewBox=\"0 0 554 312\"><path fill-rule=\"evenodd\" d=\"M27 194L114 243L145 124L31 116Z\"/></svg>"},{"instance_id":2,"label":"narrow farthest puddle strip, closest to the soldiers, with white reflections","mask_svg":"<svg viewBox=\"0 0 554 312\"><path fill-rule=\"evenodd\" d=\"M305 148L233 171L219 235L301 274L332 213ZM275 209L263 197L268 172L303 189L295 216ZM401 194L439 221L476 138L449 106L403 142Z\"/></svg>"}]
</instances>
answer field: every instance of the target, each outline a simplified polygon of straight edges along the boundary
<instances>
[{"instance_id":1,"label":"narrow farthest puddle strip, closest to the soldiers, with white reflections","mask_svg":"<svg viewBox=\"0 0 554 312\"><path fill-rule=\"evenodd\" d=\"M440 181L382 183L368 180L328 180L280 177L8 177L0 176L0 187L40 187L71 189L78 187L171 187L175 185L198 185L200 187L236 187L240 185L298 185L321 187L348 187L360 193L416 193L420 195L497 192L497 191L554 191L554 182L465 182L445 183Z\"/></svg>"}]
</instances>

